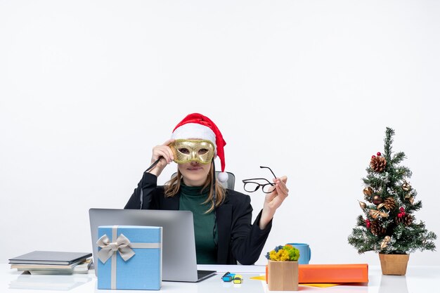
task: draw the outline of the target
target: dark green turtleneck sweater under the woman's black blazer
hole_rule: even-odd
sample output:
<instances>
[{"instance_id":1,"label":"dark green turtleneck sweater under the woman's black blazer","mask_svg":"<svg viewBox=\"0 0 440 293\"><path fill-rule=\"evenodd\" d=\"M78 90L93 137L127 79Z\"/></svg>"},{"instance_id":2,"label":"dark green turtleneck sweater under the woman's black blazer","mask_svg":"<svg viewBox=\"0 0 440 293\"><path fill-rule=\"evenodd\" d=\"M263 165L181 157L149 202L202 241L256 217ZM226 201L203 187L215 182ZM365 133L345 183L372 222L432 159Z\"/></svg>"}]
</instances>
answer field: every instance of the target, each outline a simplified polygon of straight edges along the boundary
<instances>
[{"instance_id":1,"label":"dark green turtleneck sweater under the woman's black blazer","mask_svg":"<svg viewBox=\"0 0 440 293\"><path fill-rule=\"evenodd\" d=\"M202 192L202 186L186 186L181 183L179 209L193 212L195 253L199 264L217 263L217 249L213 235L215 217L212 212L205 213L210 206L210 202L203 203L207 197L208 190Z\"/></svg>"}]
</instances>

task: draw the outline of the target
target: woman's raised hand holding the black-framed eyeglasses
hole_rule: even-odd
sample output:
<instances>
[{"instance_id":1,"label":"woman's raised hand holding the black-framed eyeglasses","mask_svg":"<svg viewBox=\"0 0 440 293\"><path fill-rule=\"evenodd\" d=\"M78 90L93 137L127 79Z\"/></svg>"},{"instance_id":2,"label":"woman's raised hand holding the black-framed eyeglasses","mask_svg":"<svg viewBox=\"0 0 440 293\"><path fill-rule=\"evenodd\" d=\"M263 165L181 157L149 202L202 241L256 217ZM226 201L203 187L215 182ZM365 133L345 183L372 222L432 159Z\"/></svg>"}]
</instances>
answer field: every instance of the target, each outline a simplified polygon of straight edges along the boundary
<instances>
[{"instance_id":1,"label":"woman's raised hand holding the black-framed eyeglasses","mask_svg":"<svg viewBox=\"0 0 440 293\"><path fill-rule=\"evenodd\" d=\"M280 207L287 195L289 195L289 188L285 185L286 182L287 176L273 179L275 186L271 193L266 194L266 198L264 199L263 211L261 212L259 223L260 229L266 228L267 224L273 218L276 209Z\"/></svg>"}]
</instances>

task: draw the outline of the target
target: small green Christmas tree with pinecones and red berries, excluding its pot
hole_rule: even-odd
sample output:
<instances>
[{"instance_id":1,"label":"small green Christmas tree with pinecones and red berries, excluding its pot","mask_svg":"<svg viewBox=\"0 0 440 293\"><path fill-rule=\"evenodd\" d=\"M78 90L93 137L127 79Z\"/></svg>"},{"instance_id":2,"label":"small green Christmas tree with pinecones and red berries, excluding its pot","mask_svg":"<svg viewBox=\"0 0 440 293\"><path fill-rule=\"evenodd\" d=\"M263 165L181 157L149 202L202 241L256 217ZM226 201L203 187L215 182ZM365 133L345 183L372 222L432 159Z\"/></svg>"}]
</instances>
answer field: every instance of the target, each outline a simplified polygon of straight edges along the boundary
<instances>
[{"instance_id":1,"label":"small green Christmas tree with pinecones and red berries, excluding its pot","mask_svg":"<svg viewBox=\"0 0 440 293\"><path fill-rule=\"evenodd\" d=\"M416 222L414 212L422 208L415 201L417 192L408 183L410 169L399 166L405 153L392 153L394 130L387 127L384 154L371 157L370 166L363 178L365 201L359 201L363 215L348 237L359 254L374 251L383 254L408 254L415 250L435 250L433 232L425 223Z\"/></svg>"}]
</instances>

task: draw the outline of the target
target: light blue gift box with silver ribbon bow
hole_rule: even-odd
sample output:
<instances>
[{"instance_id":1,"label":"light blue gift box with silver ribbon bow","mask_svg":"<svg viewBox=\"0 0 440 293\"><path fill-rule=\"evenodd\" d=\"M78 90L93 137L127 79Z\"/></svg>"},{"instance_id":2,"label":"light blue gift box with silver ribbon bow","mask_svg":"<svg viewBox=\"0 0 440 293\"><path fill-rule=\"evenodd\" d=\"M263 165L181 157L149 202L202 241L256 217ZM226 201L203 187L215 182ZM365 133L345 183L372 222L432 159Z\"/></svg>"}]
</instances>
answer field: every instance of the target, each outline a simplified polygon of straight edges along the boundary
<instances>
[{"instance_id":1,"label":"light blue gift box with silver ribbon bow","mask_svg":"<svg viewBox=\"0 0 440 293\"><path fill-rule=\"evenodd\" d=\"M99 226L98 289L158 290L162 227Z\"/></svg>"}]
</instances>

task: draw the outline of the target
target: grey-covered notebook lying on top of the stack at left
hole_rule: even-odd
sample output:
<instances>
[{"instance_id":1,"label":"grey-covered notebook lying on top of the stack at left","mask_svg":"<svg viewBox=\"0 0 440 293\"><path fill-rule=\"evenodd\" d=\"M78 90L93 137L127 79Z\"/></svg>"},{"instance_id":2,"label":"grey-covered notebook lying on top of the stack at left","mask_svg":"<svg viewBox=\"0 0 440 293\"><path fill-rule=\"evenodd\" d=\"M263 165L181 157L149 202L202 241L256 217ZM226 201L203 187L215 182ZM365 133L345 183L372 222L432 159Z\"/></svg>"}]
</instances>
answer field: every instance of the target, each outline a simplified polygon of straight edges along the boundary
<instances>
[{"instance_id":1,"label":"grey-covered notebook lying on top of the stack at left","mask_svg":"<svg viewBox=\"0 0 440 293\"><path fill-rule=\"evenodd\" d=\"M36 250L9 259L9 263L71 265L91 256L90 252L46 252Z\"/></svg>"}]
</instances>

